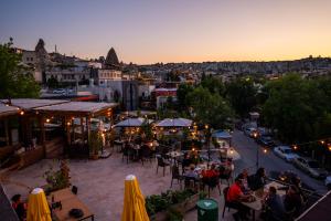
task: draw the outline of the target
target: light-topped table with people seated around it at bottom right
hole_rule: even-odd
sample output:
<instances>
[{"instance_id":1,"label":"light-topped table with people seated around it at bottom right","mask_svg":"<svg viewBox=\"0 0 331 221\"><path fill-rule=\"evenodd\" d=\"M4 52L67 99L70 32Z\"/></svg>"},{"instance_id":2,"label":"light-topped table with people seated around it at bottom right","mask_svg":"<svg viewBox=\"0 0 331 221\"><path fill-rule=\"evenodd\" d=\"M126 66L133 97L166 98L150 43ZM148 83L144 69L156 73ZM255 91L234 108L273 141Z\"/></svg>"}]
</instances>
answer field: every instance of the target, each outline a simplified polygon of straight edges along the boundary
<instances>
[{"instance_id":1,"label":"light-topped table with people seated around it at bottom right","mask_svg":"<svg viewBox=\"0 0 331 221\"><path fill-rule=\"evenodd\" d=\"M265 193L268 191L269 187L275 187L277 189L277 193L282 197L286 194L286 190L278 190L279 188L284 188L286 186L276 182L276 181L271 181L269 183L267 183L263 190L263 192L260 193L260 190L257 190L255 192L253 192L253 197L255 197L255 201L253 202L241 202L242 204L248 207L249 209L253 210L253 220L255 220L255 211L260 211L263 209L263 198L265 196Z\"/></svg>"}]
</instances>

